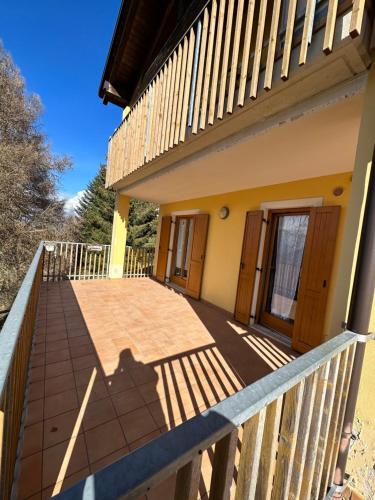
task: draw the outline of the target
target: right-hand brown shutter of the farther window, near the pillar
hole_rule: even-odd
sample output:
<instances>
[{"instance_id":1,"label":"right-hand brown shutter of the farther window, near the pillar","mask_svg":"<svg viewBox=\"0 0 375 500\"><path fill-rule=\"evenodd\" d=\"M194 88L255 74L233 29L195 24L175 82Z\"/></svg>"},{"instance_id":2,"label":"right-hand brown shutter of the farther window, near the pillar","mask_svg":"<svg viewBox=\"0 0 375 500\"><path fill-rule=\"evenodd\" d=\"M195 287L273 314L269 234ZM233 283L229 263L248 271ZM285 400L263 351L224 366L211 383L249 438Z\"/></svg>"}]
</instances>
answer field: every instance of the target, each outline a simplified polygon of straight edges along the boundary
<instances>
[{"instance_id":1,"label":"right-hand brown shutter of the farther window, near the pillar","mask_svg":"<svg viewBox=\"0 0 375 500\"><path fill-rule=\"evenodd\" d=\"M201 295L203 266L206 255L208 220L208 214L199 214L194 216L193 240L191 243L186 293L195 299L199 299Z\"/></svg>"}]
</instances>

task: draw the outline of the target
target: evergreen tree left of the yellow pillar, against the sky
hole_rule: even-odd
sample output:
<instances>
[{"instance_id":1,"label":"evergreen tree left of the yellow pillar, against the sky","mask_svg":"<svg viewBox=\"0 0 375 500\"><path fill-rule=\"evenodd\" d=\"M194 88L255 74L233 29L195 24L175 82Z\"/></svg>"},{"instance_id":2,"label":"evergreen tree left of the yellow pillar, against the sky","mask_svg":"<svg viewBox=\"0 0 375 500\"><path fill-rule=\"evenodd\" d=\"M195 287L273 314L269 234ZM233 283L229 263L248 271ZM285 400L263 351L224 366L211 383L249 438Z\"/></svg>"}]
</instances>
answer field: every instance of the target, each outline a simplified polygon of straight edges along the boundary
<instances>
[{"instance_id":1,"label":"evergreen tree left of the yellow pillar, against the sky","mask_svg":"<svg viewBox=\"0 0 375 500\"><path fill-rule=\"evenodd\" d=\"M100 165L76 208L78 239L84 243L111 243L115 193L105 188L105 174L106 166Z\"/></svg>"}]
</instances>

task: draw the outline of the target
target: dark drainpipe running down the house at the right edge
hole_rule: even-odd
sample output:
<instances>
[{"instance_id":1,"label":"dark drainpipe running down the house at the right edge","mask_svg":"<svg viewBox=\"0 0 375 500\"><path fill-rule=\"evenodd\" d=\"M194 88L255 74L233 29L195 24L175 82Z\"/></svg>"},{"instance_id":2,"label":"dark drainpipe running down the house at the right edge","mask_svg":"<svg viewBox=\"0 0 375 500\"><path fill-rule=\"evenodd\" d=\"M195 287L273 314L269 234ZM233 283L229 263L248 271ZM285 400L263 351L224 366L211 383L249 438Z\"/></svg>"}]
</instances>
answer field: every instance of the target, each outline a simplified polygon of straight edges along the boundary
<instances>
[{"instance_id":1,"label":"dark drainpipe running down the house at the right edge","mask_svg":"<svg viewBox=\"0 0 375 500\"><path fill-rule=\"evenodd\" d=\"M369 186L363 217L363 226L358 250L352 297L350 301L348 330L363 335L357 343L348 400L345 410L343 430L333 484L336 493L333 498L342 498L342 486L348 459L349 445L353 431L353 421L358 398L359 383L369 333L371 309L375 284L375 150L372 158Z\"/></svg>"}]
</instances>

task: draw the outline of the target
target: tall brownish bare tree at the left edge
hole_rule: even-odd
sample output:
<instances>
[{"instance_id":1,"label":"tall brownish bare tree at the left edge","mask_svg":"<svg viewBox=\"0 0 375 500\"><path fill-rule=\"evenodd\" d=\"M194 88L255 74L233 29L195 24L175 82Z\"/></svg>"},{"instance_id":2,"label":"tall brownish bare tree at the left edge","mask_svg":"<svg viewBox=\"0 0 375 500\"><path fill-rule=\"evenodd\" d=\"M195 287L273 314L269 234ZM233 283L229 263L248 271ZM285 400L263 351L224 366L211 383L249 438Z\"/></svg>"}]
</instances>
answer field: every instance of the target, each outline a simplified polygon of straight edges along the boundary
<instances>
[{"instance_id":1,"label":"tall brownish bare tree at the left edge","mask_svg":"<svg viewBox=\"0 0 375 500\"><path fill-rule=\"evenodd\" d=\"M41 239L69 229L58 175L71 164L40 130L42 105L0 44L0 310L9 306Z\"/></svg>"}]
</instances>

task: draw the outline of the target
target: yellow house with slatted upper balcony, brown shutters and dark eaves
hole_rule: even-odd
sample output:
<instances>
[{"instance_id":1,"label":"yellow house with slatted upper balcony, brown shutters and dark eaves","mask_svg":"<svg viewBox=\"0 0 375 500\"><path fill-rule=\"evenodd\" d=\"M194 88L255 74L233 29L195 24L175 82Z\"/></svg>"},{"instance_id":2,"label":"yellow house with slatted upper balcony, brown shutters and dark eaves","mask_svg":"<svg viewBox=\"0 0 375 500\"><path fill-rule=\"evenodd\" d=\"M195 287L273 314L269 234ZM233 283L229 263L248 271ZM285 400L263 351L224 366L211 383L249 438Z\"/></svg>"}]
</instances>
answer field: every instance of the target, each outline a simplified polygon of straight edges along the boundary
<instances>
[{"instance_id":1,"label":"yellow house with slatted upper balcony, brown shutters and dark eaves","mask_svg":"<svg viewBox=\"0 0 375 500\"><path fill-rule=\"evenodd\" d=\"M305 353L348 318L375 144L374 6L149 9L122 5L99 92L123 108L110 276L122 277L130 198L156 202L155 279ZM368 428L374 355L357 408Z\"/></svg>"}]
</instances>

